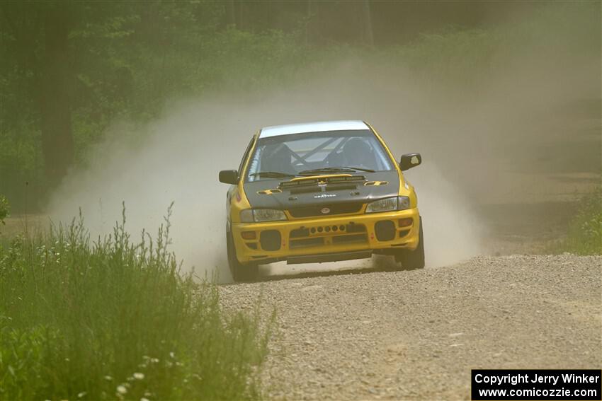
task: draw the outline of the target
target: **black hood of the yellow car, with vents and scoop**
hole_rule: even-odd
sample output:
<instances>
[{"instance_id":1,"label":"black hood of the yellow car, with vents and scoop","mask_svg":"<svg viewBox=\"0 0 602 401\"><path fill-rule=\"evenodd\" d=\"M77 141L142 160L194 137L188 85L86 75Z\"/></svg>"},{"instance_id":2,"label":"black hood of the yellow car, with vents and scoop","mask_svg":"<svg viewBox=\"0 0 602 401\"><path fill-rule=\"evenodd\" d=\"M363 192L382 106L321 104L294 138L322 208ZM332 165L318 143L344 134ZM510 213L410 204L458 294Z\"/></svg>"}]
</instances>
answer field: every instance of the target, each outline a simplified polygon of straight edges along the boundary
<instances>
[{"instance_id":1,"label":"black hood of the yellow car, with vents and scoop","mask_svg":"<svg viewBox=\"0 0 602 401\"><path fill-rule=\"evenodd\" d=\"M251 207L280 210L343 207L343 204L363 204L399 194L399 175L395 170L354 173L348 178L322 178L320 184L317 181L245 182L244 193Z\"/></svg>"}]
</instances>

